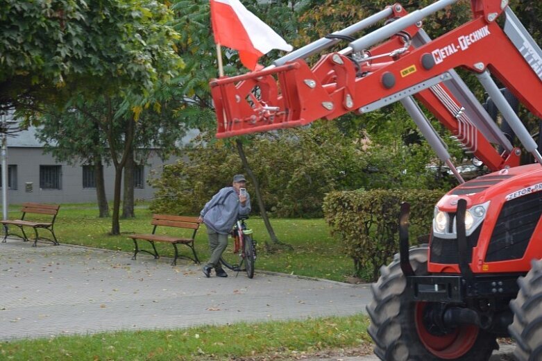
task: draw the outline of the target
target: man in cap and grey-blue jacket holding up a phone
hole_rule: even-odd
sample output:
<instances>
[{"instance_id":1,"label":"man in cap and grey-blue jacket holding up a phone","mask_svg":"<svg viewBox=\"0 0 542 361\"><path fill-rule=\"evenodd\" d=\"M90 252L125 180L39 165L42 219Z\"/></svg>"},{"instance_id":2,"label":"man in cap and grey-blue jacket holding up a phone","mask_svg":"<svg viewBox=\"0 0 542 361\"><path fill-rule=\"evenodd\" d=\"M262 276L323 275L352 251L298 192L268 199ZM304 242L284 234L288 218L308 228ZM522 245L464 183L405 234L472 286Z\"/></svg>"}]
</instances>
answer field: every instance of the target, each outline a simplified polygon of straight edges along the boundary
<instances>
[{"instance_id":1,"label":"man in cap and grey-blue jacket holding up a phone","mask_svg":"<svg viewBox=\"0 0 542 361\"><path fill-rule=\"evenodd\" d=\"M213 268L218 277L228 277L220 264L220 256L228 246L228 233L232 230L237 217L251 212L251 196L246 192L245 185L245 176L236 174L233 176L232 187L219 190L200 212L199 221L203 221L207 226L211 250L211 258L203 266L205 277L210 277Z\"/></svg>"}]
</instances>

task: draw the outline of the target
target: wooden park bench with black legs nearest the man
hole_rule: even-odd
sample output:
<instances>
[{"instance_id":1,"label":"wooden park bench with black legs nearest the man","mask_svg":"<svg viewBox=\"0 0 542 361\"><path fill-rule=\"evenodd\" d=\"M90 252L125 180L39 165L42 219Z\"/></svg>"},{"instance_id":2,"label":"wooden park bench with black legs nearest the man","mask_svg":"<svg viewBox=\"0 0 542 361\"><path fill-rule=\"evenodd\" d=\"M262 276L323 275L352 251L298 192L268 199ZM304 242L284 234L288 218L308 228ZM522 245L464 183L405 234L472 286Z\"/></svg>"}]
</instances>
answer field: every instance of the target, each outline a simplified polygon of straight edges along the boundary
<instances>
[{"instance_id":1,"label":"wooden park bench with black legs nearest the man","mask_svg":"<svg viewBox=\"0 0 542 361\"><path fill-rule=\"evenodd\" d=\"M198 231L198 228L199 228L198 217L153 215L153 221L151 222L151 224L154 226L153 233L151 234L128 235L128 237L130 237L133 240L134 245L135 245L134 255L132 258L133 260L135 260L137 253L139 252L149 253L150 255L153 255L155 259L160 258L160 255L158 255L158 251L156 251L154 242L164 242L164 243L173 244L173 248L175 249L175 258L173 258L173 262L171 262L172 266L177 264L177 258L179 257L185 257L185 258L188 258L189 260L193 260L194 262L199 263L198 255L196 255L196 249L194 249L194 237L196 237L196 232ZM192 237L173 237L171 235L157 235L156 228L158 228L158 226L192 229L194 230L194 232L192 232ZM153 252L146 251L144 249L139 249L139 246L137 245L137 240L145 240L149 242L153 246ZM186 246L189 246L189 248L192 249L194 258L184 256L184 255L179 255L177 244L185 244Z\"/></svg>"}]
</instances>

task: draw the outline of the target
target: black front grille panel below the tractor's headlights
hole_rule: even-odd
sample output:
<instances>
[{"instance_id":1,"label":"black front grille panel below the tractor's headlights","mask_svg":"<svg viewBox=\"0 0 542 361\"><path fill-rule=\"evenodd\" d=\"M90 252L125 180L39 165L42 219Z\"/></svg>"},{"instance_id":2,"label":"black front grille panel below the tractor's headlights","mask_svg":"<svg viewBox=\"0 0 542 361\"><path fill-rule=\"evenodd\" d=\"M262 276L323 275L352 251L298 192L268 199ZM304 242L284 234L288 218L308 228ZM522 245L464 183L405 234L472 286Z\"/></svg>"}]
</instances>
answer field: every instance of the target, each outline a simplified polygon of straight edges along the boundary
<instances>
[{"instance_id":1,"label":"black front grille panel below the tractor's headlights","mask_svg":"<svg viewBox=\"0 0 542 361\"><path fill-rule=\"evenodd\" d=\"M473 258L473 247L478 243L478 237L480 237L480 230L483 225L482 222L482 224L467 237L468 254L466 257L469 261ZM430 245L430 262L440 263L441 265L459 264L457 238L440 238L433 236Z\"/></svg>"}]
</instances>

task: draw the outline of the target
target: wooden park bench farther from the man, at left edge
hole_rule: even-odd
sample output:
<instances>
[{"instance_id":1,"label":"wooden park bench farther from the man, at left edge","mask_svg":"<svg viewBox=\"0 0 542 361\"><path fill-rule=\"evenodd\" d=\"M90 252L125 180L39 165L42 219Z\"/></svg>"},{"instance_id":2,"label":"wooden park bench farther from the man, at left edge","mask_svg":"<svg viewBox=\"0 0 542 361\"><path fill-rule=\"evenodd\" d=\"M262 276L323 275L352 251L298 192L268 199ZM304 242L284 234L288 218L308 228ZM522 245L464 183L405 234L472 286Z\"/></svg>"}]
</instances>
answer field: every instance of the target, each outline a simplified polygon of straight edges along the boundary
<instances>
[{"instance_id":1,"label":"wooden park bench farther from the man, at left edge","mask_svg":"<svg viewBox=\"0 0 542 361\"><path fill-rule=\"evenodd\" d=\"M44 240L52 242L55 246L58 246L58 240L56 239L55 232L53 230L53 226L55 225L55 219L56 215L58 215L58 209L60 208L60 205L56 204L41 204L41 203L23 203L22 204L22 216L21 219L6 219L5 221L0 221L3 224L3 230L4 230L4 236L3 236L3 243L6 242L8 235L15 235L19 238L22 238L25 242L28 242L30 239L24 232L24 227L31 227L34 230L35 234L35 240L34 244L32 246L37 245L38 240ZM49 215L52 217L52 219L44 219L44 220L38 220L38 217L34 216L34 219L28 219L27 215ZM40 217L42 218L42 217ZM17 226L22 232L22 236L17 235L17 233L9 233L8 226ZM51 235L53 235L53 239L49 238L40 238L40 236L37 233L38 229L46 229L51 232Z\"/></svg>"}]
</instances>

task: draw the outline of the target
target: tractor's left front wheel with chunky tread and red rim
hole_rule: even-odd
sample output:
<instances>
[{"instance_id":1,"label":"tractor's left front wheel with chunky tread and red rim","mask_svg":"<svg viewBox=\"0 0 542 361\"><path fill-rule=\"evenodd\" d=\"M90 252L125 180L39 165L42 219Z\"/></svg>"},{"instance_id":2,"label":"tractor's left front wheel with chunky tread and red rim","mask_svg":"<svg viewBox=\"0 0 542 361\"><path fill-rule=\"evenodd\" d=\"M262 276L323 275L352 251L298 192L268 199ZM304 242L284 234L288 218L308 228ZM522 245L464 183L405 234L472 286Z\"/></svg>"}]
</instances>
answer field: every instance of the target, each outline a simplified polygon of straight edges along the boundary
<instances>
[{"instance_id":1,"label":"tractor's left front wheel with chunky tread and red rim","mask_svg":"<svg viewBox=\"0 0 542 361\"><path fill-rule=\"evenodd\" d=\"M427 275L428 246L412 247L410 264L416 276ZM375 354L387 361L489 360L498 349L496 336L477 326L460 326L448 334L430 333L423 314L430 303L409 299L407 279L396 254L389 266L380 268L380 278L371 285L373 300L367 306L371 317L369 335Z\"/></svg>"}]
</instances>

